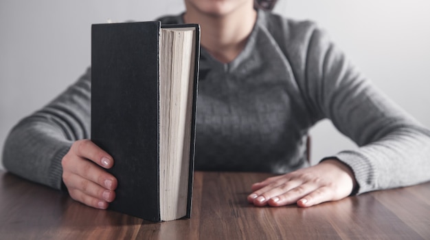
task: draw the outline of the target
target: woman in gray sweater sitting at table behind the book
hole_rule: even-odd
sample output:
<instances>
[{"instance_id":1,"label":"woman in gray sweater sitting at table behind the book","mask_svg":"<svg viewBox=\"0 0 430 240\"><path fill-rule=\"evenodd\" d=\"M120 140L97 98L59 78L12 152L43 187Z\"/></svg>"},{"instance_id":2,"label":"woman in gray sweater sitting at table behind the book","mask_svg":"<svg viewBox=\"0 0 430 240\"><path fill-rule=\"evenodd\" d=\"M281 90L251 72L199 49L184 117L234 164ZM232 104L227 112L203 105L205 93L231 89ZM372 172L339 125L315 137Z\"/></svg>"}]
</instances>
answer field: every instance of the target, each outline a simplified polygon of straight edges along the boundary
<instances>
[{"instance_id":1,"label":"woman in gray sweater sitting at table behind the book","mask_svg":"<svg viewBox=\"0 0 430 240\"><path fill-rule=\"evenodd\" d=\"M274 1L267 1L273 3ZM252 0L185 0L163 23L201 25L196 169L286 173L253 184L256 206L308 207L430 179L430 132L357 72L313 23ZM89 140L91 70L11 131L4 166L107 208L113 158ZM360 148L307 166L306 136L330 118Z\"/></svg>"}]
</instances>

